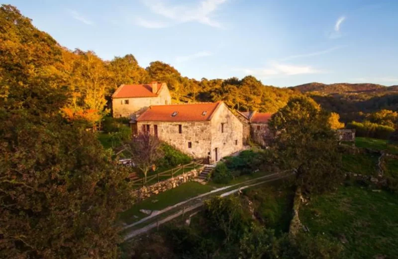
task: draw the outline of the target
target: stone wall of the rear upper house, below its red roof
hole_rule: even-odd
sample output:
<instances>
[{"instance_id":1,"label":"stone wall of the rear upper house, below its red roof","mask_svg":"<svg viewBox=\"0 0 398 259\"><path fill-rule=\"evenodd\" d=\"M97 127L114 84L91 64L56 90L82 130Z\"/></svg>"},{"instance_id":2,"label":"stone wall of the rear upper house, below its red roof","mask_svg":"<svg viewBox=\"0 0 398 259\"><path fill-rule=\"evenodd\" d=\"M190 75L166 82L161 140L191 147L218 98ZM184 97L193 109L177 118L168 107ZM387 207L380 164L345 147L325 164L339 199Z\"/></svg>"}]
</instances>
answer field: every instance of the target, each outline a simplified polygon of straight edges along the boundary
<instances>
[{"instance_id":1,"label":"stone wall of the rear upper house, below its red roof","mask_svg":"<svg viewBox=\"0 0 398 259\"><path fill-rule=\"evenodd\" d=\"M128 104L124 104L128 100ZM171 96L167 87L162 87L158 97L115 98L112 100L113 117L130 117L138 110L151 105L171 104Z\"/></svg>"}]
</instances>

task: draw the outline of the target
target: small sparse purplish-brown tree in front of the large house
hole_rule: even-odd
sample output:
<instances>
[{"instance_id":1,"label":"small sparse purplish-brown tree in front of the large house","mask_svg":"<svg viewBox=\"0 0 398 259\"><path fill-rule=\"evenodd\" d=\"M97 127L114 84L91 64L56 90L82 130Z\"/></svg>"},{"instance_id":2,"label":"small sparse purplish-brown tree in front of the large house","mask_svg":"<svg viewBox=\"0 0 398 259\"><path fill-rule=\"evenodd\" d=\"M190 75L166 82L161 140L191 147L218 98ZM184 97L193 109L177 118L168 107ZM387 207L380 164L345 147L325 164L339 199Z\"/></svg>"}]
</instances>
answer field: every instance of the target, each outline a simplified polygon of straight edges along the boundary
<instances>
[{"instance_id":1,"label":"small sparse purplish-brown tree in front of the large house","mask_svg":"<svg viewBox=\"0 0 398 259\"><path fill-rule=\"evenodd\" d=\"M151 134L141 132L131 141L123 143L123 147L144 174L146 182L148 171L162 157L159 139Z\"/></svg>"}]
</instances>

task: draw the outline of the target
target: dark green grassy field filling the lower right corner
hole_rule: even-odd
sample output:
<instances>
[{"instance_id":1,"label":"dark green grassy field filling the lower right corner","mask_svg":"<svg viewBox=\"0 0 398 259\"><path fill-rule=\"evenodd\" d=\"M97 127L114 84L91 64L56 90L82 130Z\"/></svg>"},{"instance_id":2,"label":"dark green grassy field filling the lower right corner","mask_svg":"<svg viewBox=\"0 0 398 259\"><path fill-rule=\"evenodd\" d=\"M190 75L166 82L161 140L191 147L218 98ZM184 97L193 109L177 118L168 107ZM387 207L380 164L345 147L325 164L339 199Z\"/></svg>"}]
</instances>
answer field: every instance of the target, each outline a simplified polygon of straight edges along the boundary
<instances>
[{"instance_id":1,"label":"dark green grassy field filling the lower right corner","mask_svg":"<svg viewBox=\"0 0 398 259\"><path fill-rule=\"evenodd\" d=\"M313 196L300 210L310 235L346 239L343 258L398 258L398 196L359 186Z\"/></svg>"}]
</instances>

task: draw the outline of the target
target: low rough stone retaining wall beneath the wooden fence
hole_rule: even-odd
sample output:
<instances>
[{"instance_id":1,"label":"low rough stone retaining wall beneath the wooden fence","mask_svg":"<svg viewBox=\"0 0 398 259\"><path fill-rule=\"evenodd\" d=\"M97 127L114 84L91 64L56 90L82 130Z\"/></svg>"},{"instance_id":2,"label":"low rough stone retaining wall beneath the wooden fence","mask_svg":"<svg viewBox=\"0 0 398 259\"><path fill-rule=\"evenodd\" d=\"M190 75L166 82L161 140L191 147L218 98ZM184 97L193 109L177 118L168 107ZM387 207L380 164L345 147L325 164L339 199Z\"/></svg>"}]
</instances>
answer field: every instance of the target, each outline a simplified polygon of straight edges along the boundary
<instances>
[{"instance_id":1,"label":"low rough stone retaining wall beneath the wooden fence","mask_svg":"<svg viewBox=\"0 0 398 259\"><path fill-rule=\"evenodd\" d=\"M199 169L191 170L187 173L180 174L165 181L161 181L150 186L141 187L140 189L133 191L132 195L136 202L142 201L160 192L164 192L176 188L183 183L193 181L202 170L203 167L200 167Z\"/></svg>"}]
</instances>

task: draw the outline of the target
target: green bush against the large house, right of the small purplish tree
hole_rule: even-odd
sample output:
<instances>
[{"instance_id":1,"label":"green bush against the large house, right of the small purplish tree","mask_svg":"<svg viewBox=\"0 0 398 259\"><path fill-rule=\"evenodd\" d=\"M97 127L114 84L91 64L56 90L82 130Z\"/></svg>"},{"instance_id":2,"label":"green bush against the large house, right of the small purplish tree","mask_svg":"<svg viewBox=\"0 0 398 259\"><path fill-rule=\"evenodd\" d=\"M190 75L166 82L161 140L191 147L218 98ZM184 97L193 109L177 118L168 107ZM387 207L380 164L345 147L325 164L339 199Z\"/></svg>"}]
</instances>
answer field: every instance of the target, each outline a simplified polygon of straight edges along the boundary
<instances>
[{"instance_id":1,"label":"green bush against the large house, right of the small purplish tree","mask_svg":"<svg viewBox=\"0 0 398 259\"><path fill-rule=\"evenodd\" d=\"M192 157L177 150L171 145L162 143L160 148L164 155L156 163L160 168L159 171L164 169L167 170L167 168L173 168L180 164L188 164L192 161Z\"/></svg>"}]
</instances>

